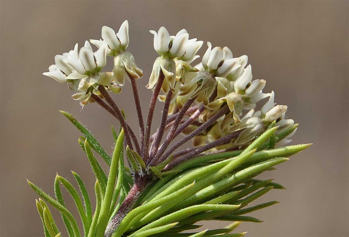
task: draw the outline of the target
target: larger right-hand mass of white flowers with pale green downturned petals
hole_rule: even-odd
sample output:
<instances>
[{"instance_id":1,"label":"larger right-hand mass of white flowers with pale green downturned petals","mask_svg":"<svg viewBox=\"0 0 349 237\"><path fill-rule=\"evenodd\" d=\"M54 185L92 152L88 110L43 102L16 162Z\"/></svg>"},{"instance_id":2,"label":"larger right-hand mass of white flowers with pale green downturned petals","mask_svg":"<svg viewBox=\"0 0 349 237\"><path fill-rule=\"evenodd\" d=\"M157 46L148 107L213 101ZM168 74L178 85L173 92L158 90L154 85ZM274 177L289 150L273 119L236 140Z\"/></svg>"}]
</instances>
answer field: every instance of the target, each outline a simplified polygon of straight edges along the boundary
<instances>
[{"instance_id":1,"label":"larger right-hand mass of white flowers with pale green downturned petals","mask_svg":"<svg viewBox=\"0 0 349 237\"><path fill-rule=\"evenodd\" d=\"M247 65L246 55L234 58L228 47L212 48L212 44L207 42L208 49L201 63L192 67L190 63L199 58L195 54L202 46L202 41L189 39L185 29L180 30L176 36L170 36L164 27L158 32L151 30L150 33L154 35L154 49L161 57L154 62L148 88L155 87L159 72L162 71L165 76L163 92L173 92L170 112L178 111L189 98L195 97L196 102L203 103L206 107L196 119L197 124L202 124L220 111L224 104L229 106L230 113L218 119L209 130L196 136L195 145L203 145L244 129L237 139L225 146L242 147L262 134L274 120L277 121L276 126L279 126L276 134L294 125L292 119L285 119L287 106L274 104L274 91L262 92L266 81L252 80L252 67ZM209 101L215 90L217 96ZM267 97L269 100L260 111L255 112L257 103ZM164 101L165 96L159 96L159 99ZM248 112L244 112L246 110ZM198 126L191 125L184 133L187 134Z\"/></svg>"}]
</instances>

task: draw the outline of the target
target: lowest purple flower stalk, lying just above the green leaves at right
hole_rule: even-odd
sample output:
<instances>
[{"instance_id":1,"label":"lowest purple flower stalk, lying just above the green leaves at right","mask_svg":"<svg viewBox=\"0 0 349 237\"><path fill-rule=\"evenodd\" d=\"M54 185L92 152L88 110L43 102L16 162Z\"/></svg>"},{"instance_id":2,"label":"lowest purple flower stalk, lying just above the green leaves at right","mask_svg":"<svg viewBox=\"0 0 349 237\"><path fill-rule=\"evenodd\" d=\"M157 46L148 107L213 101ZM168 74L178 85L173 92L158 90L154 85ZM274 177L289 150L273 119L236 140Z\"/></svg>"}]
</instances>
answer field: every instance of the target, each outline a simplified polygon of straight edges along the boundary
<instances>
[{"instance_id":1,"label":"lowest purple flower stalk, lying just above the green leaves at right","mask_svg":"<svg viewBox=\"0 0 349 237\"><path fill-rule=\"evenodd\" d=\"M164 171L168 171L168 170L171 170L173 167L179 165L180 163L184 162L184 161L187 161L193 157L195 157L196 155L204 152L204 151L207 151L211 148L214 148L214 147L217 147L217 146L221 146L221 145L224 145L224 144L227 144L231 141L231 139L233 138L237 138L240 133L242 132L243 130L239 130L239 131L236 131L236 132L233 132L233 133L230 133L226 136L223 136L222 138L220 139L217 139L211 143L208 143L206 145L203 145L201 147L197 147L195 149L193 149L191 152L189 152L188 154L184 155L184 156L181 156L175 160L173 160L172 162L170 162L165 168L164 168Z\"/></svg>"}]
</instances>

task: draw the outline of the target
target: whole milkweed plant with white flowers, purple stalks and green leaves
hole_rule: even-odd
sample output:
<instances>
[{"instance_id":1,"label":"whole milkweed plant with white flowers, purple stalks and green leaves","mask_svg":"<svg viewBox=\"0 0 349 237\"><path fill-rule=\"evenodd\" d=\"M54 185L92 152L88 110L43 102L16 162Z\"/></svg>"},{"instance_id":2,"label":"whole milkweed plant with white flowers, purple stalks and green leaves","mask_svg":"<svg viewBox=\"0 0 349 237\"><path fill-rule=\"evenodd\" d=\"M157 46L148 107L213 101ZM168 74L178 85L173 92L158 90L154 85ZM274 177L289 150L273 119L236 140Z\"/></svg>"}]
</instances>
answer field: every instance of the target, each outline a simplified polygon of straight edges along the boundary
<instances>
[{"instance_id":1,"label":"whole milkweed plant with white flowers, purple stalks and green leaves","mask_svg":"<svg viewBox=\"0 0 349 237\"><path fill-rule=\"evenodd\" d=\"M128 30L127 20L117 33L103 26L102 39L90 39L80 50L75 44L73 50L55 55L55 64L43 73L67 83L82 108L98 104L120 124L120 129L112 127L115 146L110 156L72 114L60 111L82 133L79 145L96 177L96 206L92 210L87 188L73 171L79 191L57 174L54 197L28 181L40 196L36 207L44 235L63 235L49 203L61 213L68 236L244 236L246 232L231 232L241 222L262 222L250 214L278 202L250 203L272 189L284 188L273 179L256 176L275 170L275 165L311 144L285 146L298 124L287 119L286 105L274 102L274 91L262 92L265 80L252 80L246 55L233 57L228 47L212 47L207 42L201 62L193 66L203 41L190 39L185 29L175 36L165 27L150 30L159 57L146 86L153 94L144 116L137 84L143 72L127 51ZM107 59L113 60L111 72L103 71ZM128 83L139 136L122 111L122 97L113 99ZM266 102L256 105L261 100ZM161 122L154 126L155 105L161 102ZM182 148L189 141L190 148ZM106 162L109 172L100 162ZM62 187L75 202L83 232L78 227L80 220L65 206ZM231 224L195 231L202 226L196 223L205 220Z\"/></svg>"}]
</instances>

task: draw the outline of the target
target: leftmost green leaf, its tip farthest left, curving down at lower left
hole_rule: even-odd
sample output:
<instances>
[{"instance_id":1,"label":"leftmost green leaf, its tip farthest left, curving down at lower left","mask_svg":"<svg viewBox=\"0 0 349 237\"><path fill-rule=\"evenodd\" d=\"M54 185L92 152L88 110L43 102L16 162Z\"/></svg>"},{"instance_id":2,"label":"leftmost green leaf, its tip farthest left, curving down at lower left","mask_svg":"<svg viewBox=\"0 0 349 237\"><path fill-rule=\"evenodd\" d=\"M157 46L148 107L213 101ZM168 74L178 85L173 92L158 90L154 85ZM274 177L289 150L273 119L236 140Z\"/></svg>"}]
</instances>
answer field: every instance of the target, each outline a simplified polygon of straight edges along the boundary
<instances>
[{"instance_id":1,"label":"leftmost green leaf, its tip farthest left, curving down at lower left","mask_svg":"<svg viewBox=\"0 0 349 237\"><path fill-rule=\"evenodd\" d=\"M57 208L62 214L64 214L70 224L72 225L73 231L74 231L74 236L75 237L80 237L80 231L79 231L79 227L77 227L77 223L73 217L73 215L64 207L62 206L58 201L54 200L53 198L51 198L49 195L47 195L41 188L39 188L38 186L36 186L35 184L31 183L28 179L27 182L29 184L29 186L45 201L47 201L48 203L50 203L53 207Z\"/></svg>"}]
</instances>

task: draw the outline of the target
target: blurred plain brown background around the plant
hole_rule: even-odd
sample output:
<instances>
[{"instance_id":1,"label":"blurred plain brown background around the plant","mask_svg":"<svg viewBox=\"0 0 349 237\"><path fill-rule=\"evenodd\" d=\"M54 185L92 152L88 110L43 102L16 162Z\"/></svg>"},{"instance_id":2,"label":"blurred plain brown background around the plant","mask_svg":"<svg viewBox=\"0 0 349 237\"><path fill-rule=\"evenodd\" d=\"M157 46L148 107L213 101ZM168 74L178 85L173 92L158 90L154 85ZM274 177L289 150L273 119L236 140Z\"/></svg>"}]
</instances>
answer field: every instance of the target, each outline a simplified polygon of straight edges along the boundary
<instances>
[{"instance_id":1,"label":"blurred plain brown background around the plant","mask_svg":"<svg viewBox=\"0 0 349 237\"><path fill-rule=\"evenodd\" d=\"M80 134L58 110L83 121L108 152L110 126L118 124L96 104L80 112L67 86L42 72L55 54L99 39L103 25L117 31L125 19L128 49L144 70L143 111L151 95L144 86L157 57L148 30L164 25L174 35L186 28L191 38L229 46L236 57L247 54L254 78L266 79L265 91L273 89L276 102L287 104L288 117L300 124L293 143L314 143L263 175L287 187L263 197L281 204L254 215L265 222L243 223L238 231L348 236L348 1L1 1L1 236L43 236L38 196L26 178L53 195L55 172L75 183L71 169L93 199L95 178L77 144ZM199 53L205 50L206 43ZM137 127L130 87L126 83L113 97ZM160 111L158 106L153 128Z\"/></svg>"}]
</instances>

